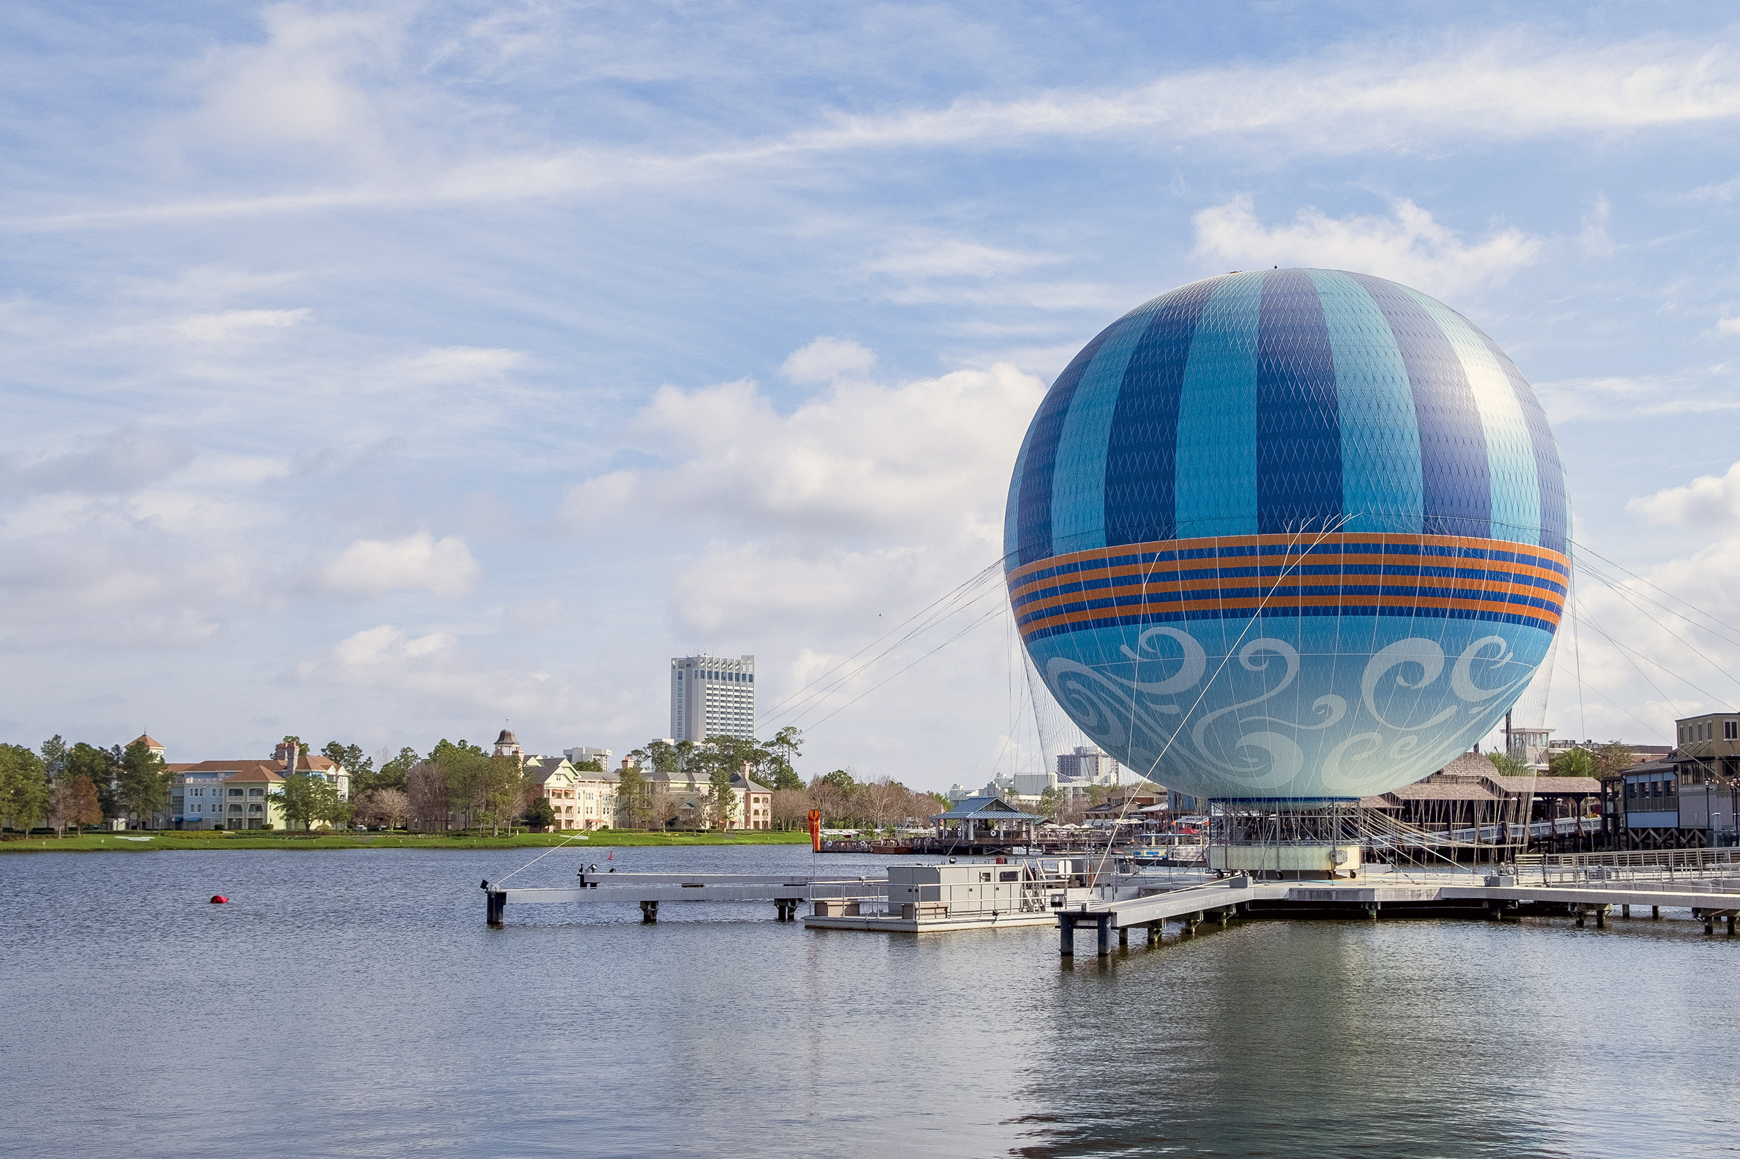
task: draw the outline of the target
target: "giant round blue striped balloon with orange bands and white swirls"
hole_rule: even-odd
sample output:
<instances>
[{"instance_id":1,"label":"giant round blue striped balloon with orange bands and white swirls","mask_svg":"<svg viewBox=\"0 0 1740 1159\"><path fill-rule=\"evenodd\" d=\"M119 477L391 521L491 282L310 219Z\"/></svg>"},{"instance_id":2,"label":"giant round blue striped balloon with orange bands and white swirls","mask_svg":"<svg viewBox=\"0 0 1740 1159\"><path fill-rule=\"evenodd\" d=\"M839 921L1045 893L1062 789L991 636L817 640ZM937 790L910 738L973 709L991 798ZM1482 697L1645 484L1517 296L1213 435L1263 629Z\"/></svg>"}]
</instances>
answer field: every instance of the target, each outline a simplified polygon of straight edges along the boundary
<instances>
[{"instance_id":1,"label":"giant round blue striped balloon with orange bands and white swirls","mask_svg":"<svg viewBox=\"0 0 1740 1159\"><path fill-rule=\"evenodd\" d=\"M1263 270L1131 310L1053 383L1004 520L1046 687L1215 801L1347 801L1484 736L1552 642L1564 470L1516 364L1425 294Z\"/></svg>"}]
</instances>

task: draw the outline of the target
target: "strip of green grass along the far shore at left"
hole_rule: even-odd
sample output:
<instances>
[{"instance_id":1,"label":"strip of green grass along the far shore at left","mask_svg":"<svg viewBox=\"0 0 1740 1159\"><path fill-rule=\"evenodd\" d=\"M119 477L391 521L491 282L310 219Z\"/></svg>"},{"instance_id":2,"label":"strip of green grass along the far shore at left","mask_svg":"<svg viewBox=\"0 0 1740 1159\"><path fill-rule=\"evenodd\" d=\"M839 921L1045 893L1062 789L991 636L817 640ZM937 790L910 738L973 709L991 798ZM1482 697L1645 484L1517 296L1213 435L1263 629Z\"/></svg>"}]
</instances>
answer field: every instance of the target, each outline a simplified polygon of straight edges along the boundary
<instances>
[{"instance_id":1,"label":"strip of green grass along the far shore at left","mask_svg":"<svg viewBox=\"0 0 1740 1159\"><path fill-rule=\"evenodd\" d=\"M491 837L489 832L371 832L355 830L139 830L113 834L97 830L56 837L49 832L5 834L0 853L144 853L151 849L534 849L560 844L585 846L790 846L807 844L802 830L729 830L649 834L632 828L595 828L553 834L513 834Z\"/></svg>"}]
</instances>

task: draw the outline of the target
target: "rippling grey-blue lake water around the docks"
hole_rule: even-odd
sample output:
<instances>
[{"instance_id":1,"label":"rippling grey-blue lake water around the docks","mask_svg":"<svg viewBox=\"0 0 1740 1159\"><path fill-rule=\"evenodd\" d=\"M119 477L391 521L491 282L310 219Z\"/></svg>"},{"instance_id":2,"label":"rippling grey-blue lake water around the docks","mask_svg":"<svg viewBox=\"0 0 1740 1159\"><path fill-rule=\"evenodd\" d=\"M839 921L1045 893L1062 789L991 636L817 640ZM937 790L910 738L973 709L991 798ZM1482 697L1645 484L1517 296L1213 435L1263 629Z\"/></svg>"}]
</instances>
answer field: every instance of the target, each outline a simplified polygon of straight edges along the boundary
<instances>
[{"instance_id":1,"label":"rippling grey-blue lake water around the docks","mask_svg":"<svg viewBox=\"0 0 1740 1159\"><path fill-rule=\"evenodd\" d=\"M1740 1149L1740 938L1691 921L1251 921L1063 968L1053 929L806 931L773 905L508 907L487 929L477 884L522 860L0 856L0 1152ZM513 884L604 860L562 849Z\"/></svg>"}]
</instances>

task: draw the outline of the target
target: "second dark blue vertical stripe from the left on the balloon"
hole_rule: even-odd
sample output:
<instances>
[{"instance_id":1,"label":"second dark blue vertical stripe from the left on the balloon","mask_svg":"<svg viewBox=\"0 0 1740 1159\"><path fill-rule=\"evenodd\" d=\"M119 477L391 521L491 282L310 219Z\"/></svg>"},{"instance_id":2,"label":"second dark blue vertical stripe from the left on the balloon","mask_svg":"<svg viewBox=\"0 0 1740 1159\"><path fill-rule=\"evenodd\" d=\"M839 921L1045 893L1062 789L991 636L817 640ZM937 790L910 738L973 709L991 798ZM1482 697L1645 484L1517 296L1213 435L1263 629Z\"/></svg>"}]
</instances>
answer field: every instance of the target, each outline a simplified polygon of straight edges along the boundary
<instances>
[{"instance_id":1,"label":"second dark blue vertical stripe from the left on the balloon","mask_svg":"<svg viewBox=\"0 0 1740 1159\"><path fill-rule=\"evenodd\" d=\"M1124 371L1105 451L1105 541L1173 539L1178 484L1178 397L1190 339L1220 278L1168 294Z\"/></svg>"}]
</instances>

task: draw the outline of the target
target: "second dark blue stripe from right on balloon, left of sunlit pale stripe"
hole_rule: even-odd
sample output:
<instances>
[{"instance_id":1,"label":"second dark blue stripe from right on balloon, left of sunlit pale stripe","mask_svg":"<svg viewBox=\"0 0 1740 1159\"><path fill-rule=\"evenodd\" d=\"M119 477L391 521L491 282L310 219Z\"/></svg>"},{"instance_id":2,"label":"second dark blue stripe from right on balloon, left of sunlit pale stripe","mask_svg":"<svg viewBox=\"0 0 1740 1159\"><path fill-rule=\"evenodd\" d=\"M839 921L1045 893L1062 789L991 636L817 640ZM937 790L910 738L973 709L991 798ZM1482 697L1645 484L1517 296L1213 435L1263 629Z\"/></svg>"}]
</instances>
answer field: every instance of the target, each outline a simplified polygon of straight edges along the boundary
<instances>
[{"instance_id":1,"label":"second dark blue stripe from right on balloon, left of sunlit pale stripe","mask_svg":"<svg viewBox=\"0 0 1740 1159\"><path fill-rule=\"evenodd\" d=\"M1486 430L1462 360L1432 315L1413 296L1369 273L1350 273L1390 325L1408 367L1420 430L1420 531L1484 536L1493 513L1486 468Z\"/></svg>"}]
</instances>

